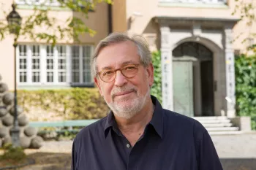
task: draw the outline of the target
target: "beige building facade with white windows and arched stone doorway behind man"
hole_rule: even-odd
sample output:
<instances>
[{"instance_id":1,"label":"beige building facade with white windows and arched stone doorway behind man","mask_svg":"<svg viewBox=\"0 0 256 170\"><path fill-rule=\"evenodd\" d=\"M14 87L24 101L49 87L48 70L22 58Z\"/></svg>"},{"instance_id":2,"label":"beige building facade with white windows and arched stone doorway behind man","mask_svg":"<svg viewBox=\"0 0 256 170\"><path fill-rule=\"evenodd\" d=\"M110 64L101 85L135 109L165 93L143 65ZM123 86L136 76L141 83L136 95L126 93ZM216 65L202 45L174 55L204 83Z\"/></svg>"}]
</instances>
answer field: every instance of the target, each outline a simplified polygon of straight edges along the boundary
<instances>
[{"instance_id":1,"label":"beige building facade with white windows and arched stone doorway behind man","mask_svg":"<svg viewBox=\"0 0 256 170\"><path fill-rule=\"evenodd\" d=\"M29 1L16 1L20 15L31 13L25 3ZM235 0L114 0L111 6L99 4L85 19L97 34L82 36L80 44L71 39L51 47L20 38L15 50L17 86L91 87L89 59L95 45L112 31L128 31L142 34L152 51L161 51L163 107L188 116L235 117L234 55L246 49L248 43L243 40L256 30L239 21L239 15L232 15L235 5ZM4 1L4 6L10 8L11 2ZM52 15L67 18L74 14L56 10ZM14 82L12 39L8 36L0 42L0 73L9 87Z\"/></svg>"}]
</instances>

